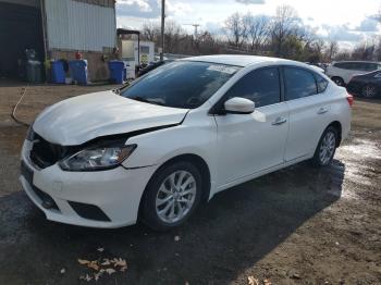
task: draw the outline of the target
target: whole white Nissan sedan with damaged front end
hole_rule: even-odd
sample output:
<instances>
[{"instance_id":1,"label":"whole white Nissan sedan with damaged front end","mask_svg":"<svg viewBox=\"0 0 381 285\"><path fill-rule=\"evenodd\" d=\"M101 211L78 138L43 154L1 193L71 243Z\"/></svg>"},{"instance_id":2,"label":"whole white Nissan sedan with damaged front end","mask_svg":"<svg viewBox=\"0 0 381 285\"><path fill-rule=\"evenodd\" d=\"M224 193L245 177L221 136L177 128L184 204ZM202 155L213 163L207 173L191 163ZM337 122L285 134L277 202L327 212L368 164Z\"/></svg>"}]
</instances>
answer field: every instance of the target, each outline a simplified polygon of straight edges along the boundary
<instances>
[{"instance_id":1,"label":"whole white Nissan sedan with damaged front end","mask_svg":"<svg viewBox=\"0 0 381 285\"><path fill-rule=\"evenodd\" d=\"M309 65L210 55L38 115L21 183L48 220L168 230L219 191L304 160L331 163L353 97Z\"/></svg>"}]
</instances>

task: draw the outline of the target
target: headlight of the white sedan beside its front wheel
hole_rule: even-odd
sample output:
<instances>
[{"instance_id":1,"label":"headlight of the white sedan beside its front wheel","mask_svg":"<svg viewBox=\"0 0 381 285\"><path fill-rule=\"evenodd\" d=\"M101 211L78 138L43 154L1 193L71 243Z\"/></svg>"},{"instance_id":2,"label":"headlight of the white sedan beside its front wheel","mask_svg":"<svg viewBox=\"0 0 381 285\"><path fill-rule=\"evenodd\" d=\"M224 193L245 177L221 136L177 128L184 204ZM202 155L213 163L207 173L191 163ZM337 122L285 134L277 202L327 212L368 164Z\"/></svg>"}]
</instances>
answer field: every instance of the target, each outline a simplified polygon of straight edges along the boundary
<instances>
[{"instance_id":1,"label":"headlight of the white sedan beside its front wheel","mask_svg":"<svg viewBox=\"0 0 381 285\"><path fill-rule=\"evenodd\" d=\"M99 171L116 168L133 153L136 145L94 147L76 152L60 161L65 171Z\"/></svg>"}]
</instances>

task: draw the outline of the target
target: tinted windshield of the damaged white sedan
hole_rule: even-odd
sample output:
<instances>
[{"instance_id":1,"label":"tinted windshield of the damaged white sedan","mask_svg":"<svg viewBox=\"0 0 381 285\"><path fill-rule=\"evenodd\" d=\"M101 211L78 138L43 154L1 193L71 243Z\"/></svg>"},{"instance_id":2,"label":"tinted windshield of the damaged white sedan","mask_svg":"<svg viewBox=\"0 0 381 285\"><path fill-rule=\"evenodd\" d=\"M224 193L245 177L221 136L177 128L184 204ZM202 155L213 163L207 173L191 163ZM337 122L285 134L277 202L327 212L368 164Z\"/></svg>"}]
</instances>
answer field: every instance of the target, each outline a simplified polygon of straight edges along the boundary
<instances>
[{"instance_id":1,"label":"tinted windshield of the damaged white sedan","mask_svg":"<svg viewBox=\"0 0 381 285\"><path fill-rule=\"evenodd\" d=\"M165 107L194 109L208 100L237 70L237 66L208 62L172 62L121 90L121 96Z\"/></svg>"}]
</instances>

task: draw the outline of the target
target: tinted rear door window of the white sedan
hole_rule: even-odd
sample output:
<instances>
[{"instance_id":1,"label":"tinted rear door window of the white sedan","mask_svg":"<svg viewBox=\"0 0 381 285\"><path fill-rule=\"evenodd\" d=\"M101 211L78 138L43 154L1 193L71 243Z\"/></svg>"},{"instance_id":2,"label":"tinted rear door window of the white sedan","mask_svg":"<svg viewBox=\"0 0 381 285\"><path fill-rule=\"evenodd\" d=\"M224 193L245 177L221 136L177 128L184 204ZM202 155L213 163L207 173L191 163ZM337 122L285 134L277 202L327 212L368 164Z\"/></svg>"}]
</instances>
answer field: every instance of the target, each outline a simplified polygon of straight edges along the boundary
<instances>
[{"instance_id":1,"label":"tinted rear door window of the white sedan","mask_svg":"<svg viewBox=\"0 0 381 285\"><path fill-rule=\"evenodd\" d=\"M312 73L295 67L284 67L286 99L294 100L318 92Z\"/></svg>"}]
</instances>

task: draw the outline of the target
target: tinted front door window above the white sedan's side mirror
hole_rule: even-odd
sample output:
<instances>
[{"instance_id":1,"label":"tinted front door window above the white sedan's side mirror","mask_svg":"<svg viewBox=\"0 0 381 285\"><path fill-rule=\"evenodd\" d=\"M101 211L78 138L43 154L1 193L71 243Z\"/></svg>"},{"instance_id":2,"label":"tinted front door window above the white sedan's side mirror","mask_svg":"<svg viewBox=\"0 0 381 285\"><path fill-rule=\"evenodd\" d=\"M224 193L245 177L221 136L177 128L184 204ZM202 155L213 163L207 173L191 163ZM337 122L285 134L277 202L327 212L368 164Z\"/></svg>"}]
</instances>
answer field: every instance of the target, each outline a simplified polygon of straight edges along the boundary
<instances>
[{"instance_id":1,"label":"tinted front door window above the white sedan's side mirror","mask_svg":"<svg viewBox=\"0 0 381 285\"><path fill-rule=\"evenodd\" d=\"M281 91L278 67L260 69L246 74L225 95L226 100L233 97L249 99L256 107L279 103Z\"/></svg>"}]
</instances>

